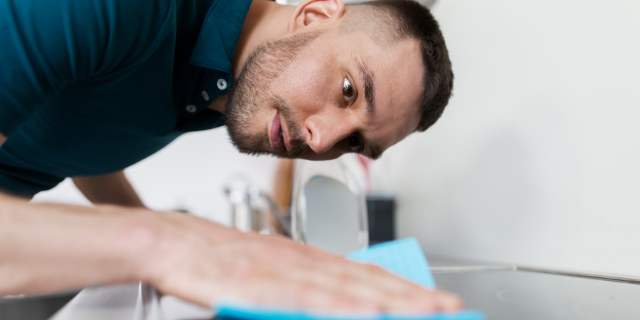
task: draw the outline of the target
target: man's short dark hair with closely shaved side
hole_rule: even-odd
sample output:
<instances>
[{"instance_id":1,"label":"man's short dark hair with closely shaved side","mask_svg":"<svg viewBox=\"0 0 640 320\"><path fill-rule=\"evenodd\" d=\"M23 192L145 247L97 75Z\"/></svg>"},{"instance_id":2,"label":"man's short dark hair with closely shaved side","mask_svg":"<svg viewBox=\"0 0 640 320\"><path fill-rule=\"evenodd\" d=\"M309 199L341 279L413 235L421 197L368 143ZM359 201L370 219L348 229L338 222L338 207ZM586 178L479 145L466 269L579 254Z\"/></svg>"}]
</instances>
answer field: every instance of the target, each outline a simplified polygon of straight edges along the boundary
<instances>
[{"instance_id":1,"label":"man's short dark hair with closely shaved side","mask_svg":"<svg viewBox=\"0 0 640 320\"><path fill-rule=\"evenodd\" d=\"M427 130L442 115L453 90L451 61L438 22L429 9L413 0L365 2L345 10L343 32L365 31L385 47L407 38L420 42L424 91L416 130Z\"/></svg>"}]
</instances>

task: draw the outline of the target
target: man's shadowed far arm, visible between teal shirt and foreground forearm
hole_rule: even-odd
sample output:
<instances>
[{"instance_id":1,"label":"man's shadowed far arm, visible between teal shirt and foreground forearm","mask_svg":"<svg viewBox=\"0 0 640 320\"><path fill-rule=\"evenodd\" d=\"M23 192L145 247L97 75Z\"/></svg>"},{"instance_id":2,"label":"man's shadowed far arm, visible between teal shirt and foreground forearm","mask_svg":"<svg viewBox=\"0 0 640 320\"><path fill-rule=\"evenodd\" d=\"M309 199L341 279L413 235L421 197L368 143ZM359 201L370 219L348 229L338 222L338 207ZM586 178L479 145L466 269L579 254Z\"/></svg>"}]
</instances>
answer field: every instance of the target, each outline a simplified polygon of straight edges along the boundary
<instances>
[{"instance_id":1,"label":"man's shadowed far arm, visible between teal shirt and foreground forearm","mask_svg":"<svg viewBox=\"0 0 640 320\"><path fill-rule=\"evenodd\" d=\"M94 204L144 207L124 171L94 177L73 178L78 190Z\"/></svg>"}]
</instances>

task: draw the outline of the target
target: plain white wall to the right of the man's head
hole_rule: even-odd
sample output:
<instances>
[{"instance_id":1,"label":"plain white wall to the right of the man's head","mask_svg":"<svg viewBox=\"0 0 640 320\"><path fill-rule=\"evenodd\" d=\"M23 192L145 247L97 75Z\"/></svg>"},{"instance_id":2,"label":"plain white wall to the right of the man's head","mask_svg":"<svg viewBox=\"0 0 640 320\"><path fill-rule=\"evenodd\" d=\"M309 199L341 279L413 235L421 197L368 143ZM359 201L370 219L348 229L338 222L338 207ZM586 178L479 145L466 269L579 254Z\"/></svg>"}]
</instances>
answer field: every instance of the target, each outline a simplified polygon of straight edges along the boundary
<instances>
[{"instance_id":1,"label":"plain white wall to the right of the man's head","mask_svg":"<svg viewBox=\"0 0 640 320\"><path fill-rule=\"evenodd\" d=\"M640 276L640 1L441 0L456 76L373 167L427 252Z\"/></svg>"}]
</instances>

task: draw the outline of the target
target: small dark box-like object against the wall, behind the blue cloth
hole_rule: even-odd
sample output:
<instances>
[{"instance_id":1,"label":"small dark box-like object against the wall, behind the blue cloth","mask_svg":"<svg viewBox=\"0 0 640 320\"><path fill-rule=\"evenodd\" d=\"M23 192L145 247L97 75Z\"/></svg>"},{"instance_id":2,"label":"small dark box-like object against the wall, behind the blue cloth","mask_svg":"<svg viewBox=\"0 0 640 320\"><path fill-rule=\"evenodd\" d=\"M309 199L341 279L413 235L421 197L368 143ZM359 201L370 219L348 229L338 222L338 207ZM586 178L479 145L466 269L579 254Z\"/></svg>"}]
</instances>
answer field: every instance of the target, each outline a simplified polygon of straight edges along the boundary
<instances>
[{"instance_id":1,"label":"small dark box-like object against the wall, behind the blue cloth","mask_svg":"<svg viewBox=\"0 0 640 320\"><path fill-rule=\"evenodd\" d=\"M388 195L367 196L369 245L396 239L396 198Z\"/></svg>"}]
</instances>

